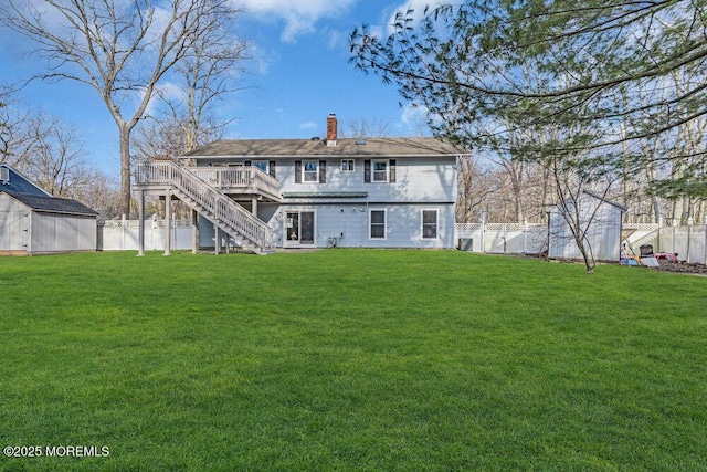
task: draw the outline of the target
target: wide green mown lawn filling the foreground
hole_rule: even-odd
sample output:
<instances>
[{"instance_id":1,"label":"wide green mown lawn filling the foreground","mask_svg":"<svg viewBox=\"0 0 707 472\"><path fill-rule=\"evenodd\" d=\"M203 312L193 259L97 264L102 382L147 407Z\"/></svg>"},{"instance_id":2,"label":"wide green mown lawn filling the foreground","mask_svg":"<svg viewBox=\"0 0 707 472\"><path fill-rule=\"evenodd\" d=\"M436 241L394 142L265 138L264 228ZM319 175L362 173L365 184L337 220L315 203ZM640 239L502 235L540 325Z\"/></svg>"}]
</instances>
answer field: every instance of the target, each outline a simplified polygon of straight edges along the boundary
<instances>
[{"instance_id":1,"label":"wide green mown lawn filling the foreground","mask_svg":"<svg viewBox=\"0 0 707 472\"><path fill-rule=\"evenodd\" d=\"M0 259L4 470L707 470L707 279L453 251Z\"/></svg>"}]
</instances>

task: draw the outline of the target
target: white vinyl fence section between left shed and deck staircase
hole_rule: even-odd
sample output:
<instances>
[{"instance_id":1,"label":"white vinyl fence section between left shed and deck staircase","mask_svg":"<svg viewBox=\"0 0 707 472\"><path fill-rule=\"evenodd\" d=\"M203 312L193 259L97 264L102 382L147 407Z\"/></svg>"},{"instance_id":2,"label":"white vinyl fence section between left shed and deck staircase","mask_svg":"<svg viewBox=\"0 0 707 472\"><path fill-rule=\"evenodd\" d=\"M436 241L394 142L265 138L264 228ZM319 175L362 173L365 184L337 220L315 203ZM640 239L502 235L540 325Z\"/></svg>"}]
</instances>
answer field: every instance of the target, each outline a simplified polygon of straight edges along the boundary
<instances>
[{"instance_id":1,"label":"white vinyl fence section between left shed and deck staircase","mask_svg":"<svg viewBox=\"0 0 707 472\"><path fill-rule=\"evenodd\" d=\"M139 220L108 220L98 223L98 251L137 251ZM191 249L191 221L171 221L171 249ZM145 221L145 250L165 250L165 220Z\"/></svg>"}]
</instances>

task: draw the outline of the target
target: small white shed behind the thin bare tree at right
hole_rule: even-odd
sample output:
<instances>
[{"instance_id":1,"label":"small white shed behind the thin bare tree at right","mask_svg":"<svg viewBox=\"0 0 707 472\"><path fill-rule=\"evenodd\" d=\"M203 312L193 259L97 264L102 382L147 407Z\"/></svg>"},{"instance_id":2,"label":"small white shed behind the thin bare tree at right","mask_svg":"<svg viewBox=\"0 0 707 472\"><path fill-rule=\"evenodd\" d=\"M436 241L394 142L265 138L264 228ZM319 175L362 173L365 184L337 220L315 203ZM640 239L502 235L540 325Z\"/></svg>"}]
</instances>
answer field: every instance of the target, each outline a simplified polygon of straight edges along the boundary
<instances>
[{"instance_id":1,"label":"small white shed behind the thin bare tree at right","mask_svg":"<svg viewBox=\"0 0 707 472\"><path fill-rule=\"evenodd\" d=\"M589 191L581 193L579 204L572 202L569 207L569 214L563 214L559 206L549 212L548 256L582 259L572 234L572 227L577 227L584 231L585 245L591 249L595 261L619 261L621 219L626 208ZM579 221L579 224L570 225L566 217Z\"/></svg>"}]
</instances>

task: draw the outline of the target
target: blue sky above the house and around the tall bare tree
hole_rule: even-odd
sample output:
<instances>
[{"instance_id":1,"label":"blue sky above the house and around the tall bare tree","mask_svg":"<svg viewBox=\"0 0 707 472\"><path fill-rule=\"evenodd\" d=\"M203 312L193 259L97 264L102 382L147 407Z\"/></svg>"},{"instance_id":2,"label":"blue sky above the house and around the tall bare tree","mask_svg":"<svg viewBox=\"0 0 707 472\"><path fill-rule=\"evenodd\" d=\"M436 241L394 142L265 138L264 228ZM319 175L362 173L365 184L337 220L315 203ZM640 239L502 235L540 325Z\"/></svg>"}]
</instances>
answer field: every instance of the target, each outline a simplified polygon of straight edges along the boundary
<instances>
[{"instance_id":1,"label":"blue sky above the house and around the tall bare tree","mask_svg":"<svg viewBox=\"0 0 707 472\"><path fill-rule=\"evenodd\" d=\"M255 59L241 77L245 91L230 95L220 113L235 118L226 138L310 138L324 136L326 117L388 125L390 136L419 135L414 112L400 107L393 85L357 71L348 35L366 23L387 31L399 9L422 11L425 0L240 0L249 10L239 24ZM0 84L32 76L40 61L24 40L0 30ZM11 64L11 66L8 66ZM33 82L25 104L74 125L87 160L109 172L118 169L117 130L97 93L68 81Z\"/></svg>"}]
</instances>

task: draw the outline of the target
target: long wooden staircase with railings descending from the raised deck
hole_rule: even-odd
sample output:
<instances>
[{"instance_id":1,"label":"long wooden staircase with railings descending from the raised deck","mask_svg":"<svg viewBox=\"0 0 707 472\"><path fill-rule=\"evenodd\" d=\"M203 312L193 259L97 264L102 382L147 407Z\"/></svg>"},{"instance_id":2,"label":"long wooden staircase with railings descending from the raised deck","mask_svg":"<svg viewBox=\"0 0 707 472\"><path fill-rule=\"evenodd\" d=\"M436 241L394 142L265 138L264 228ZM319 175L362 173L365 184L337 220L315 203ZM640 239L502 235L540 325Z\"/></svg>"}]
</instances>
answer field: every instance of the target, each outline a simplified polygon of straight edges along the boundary
<instances>
[{"instance_id":1,"label":"long wooden staircase with railings descending from the raised deck","mask_svg":"<svg viewBox=\"0 0 707 472\"><path fill-rule=\"evenodd\" d=\"M228 233L236 245L257 254L273 252L273 229L189 168L171 160L136 164L135 188L166 188Z\"/></svg>"}]
</instances>

